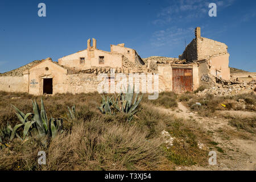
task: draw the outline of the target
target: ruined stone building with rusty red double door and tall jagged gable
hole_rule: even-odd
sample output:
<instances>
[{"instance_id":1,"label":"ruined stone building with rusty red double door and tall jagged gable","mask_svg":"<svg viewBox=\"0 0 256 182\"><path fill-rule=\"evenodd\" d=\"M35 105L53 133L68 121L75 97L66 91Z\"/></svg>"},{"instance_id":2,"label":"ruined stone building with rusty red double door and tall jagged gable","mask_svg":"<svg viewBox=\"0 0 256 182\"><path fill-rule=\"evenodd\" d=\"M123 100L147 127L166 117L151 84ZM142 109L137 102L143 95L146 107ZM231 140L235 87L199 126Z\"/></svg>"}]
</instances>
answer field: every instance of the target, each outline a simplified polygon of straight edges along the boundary
<instances>
[{"instance_id":1,"label":"ruined stone building with rusty red double door and tall jagged gable","mask_svg":"<svg viewBox=\"0 0 256 182\"><path fill-rule=\"evenodd\" d=\"M157 70L162 79L160 90L192 91L213 84L215 77L230 79L228 46L201 37L200 27L179 59L151 57L149 61L148 68Z\"/></svg>"}]
</instances>

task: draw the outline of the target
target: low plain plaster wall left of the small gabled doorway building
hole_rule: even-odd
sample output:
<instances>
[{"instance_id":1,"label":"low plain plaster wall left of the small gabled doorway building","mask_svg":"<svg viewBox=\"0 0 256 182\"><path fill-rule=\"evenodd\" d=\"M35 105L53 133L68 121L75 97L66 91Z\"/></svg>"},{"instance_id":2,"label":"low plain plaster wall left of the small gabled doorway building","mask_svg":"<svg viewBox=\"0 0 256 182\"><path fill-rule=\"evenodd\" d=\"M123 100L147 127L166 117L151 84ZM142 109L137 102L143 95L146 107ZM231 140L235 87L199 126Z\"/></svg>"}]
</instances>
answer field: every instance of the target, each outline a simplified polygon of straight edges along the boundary
<instances>
[{"instance_id":1,"label":"low plain plaster wall left of the small gabled doorway building","mask_svg":"<svg viewBox=\"0 0 256 182\"><path fill-rule=\"evenodd\" d=\"M1 76L0 90L6 92L26 92L23 76Z\"/></svg>"}]
</instances>

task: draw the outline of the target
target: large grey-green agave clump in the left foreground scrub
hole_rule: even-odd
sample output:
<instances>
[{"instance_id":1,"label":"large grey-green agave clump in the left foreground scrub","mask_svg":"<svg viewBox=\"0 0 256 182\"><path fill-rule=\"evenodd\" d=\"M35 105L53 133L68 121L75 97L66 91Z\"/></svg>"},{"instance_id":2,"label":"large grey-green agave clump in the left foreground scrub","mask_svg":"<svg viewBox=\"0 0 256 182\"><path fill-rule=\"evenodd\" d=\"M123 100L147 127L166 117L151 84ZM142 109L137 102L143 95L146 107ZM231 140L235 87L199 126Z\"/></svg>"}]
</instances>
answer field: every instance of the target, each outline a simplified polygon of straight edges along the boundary
<instances>
[{"instance_id":1,"label":"large grey-green agave clump in the left foreground scrub","mask_svg":"<svg viewBox=\"0 0 256 182\"><path fill-rule=\"evenodd\" d=\"M44 103L41 98L41 110L39 109L38 104L36 101L32 101L32 106L33 106L33 111L34 113L27 113L26 115L22 113L17 107L14 105L11 105L15 111L16 115L19 118L19 121L21 122L20 124L17 124L14 126L14 128L11 128L9 126L9 129L11 130L11 136L10 140L13 140L15 135L16 137L24 140L28 134L28 132L31 130L35 131L39 137L55 137L58 132L62 132L62 123L63 119L57 118L48 120L46 110L44 108ZM28 118L31 116L32 120L28 121ZM23 127L23 137L19 137L19 135L16 133L16 131L20 128Z\"/></svg>"}]
</instances>

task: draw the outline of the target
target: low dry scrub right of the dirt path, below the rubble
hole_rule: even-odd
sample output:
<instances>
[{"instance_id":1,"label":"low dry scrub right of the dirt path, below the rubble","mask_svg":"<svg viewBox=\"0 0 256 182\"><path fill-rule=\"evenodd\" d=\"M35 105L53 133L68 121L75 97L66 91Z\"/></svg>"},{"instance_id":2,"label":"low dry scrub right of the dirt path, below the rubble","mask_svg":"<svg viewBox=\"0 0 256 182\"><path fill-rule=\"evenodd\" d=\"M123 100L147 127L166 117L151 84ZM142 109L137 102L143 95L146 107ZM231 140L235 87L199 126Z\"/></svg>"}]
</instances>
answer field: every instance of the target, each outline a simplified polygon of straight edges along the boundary
<instances>
[{"instance_id":1,"label":"low dry scrub right of the dirt path, below the rubble","mask_svg":"<svg viewBox=\"0 0 256 182\"><path fill-rule=\"evenodd\" d=\"M255 93L244 93L230 96L206 96L196 97L193 93L184 93L179 96L179 101L188 105L189 109L196 111L203 117L216 117L216 111L256 111ZM197 105L196 103L201 105ZM250 133L256 133L256 117L235 117L226 114L224 118L229 119L229 124Z\"/></svg>"}]
</instances>

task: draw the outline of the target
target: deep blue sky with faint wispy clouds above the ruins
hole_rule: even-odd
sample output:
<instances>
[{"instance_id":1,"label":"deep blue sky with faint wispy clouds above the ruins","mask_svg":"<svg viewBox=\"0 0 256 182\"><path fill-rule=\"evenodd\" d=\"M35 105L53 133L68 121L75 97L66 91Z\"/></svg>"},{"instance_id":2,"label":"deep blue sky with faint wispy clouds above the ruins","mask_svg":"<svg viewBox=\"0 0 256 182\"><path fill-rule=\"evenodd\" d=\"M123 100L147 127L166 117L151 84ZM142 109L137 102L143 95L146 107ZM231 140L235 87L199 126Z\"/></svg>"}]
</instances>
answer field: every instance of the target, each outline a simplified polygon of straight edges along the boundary
<instances>
[{"instance_id":1,"label":"deep blue sky with faint wispy clouds above the ruins","mask_svg":"<svg viewBox=\"0 0 256 182\"><path fill-rule=\"evenodd\" d=\"M46 3L46 17L38 4ZM209 3L217 17L209 17ZM32 60L60 57L86 49L125 43L141 57L179 56L201 36L228 45L230 67L256 72L256 1L249 0L137 0L137 1L0 1L0 72Z\"/></svg>"}]
</instances>

